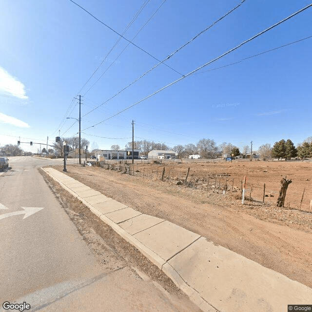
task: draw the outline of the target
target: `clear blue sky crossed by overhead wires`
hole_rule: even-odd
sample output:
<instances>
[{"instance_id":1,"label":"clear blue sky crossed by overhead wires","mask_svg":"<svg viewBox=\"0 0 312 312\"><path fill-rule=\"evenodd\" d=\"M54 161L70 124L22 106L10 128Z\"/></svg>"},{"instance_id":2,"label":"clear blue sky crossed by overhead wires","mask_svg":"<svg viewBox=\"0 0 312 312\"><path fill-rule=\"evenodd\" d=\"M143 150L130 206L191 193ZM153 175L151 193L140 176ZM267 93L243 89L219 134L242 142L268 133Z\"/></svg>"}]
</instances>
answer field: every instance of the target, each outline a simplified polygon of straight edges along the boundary
<instances>
[{"instance_id":1,"label":"clear blue sky crossed by overhead wires","mask_svg":"<svg viewBox=\"0 0 312 312\"><path fill-rule=\"evenodd\" d=\"M129 40L160 7L133 42L163 60L240 1L77 0L77 3L120 34L143 5L124 34ZM164 63L186 75L309 3L246 0ZM66 117L78 118L78 101L73 100L78 94L83 96L81 116L87 114L81 118L81 136L91 146L96 142L101 149L109 149L113 144L123 148L132 137L132 120L135 139L167 142L169 146L196 144L201 138L238 147L253 141L253 149L282 138L290 138L295 144L302 142L312 135L309 127L312 38L238 64L211 69L312 36L311 20L312 7L194 75L109 118L181 75L159 64L87 114L158 61L120 39L80 91L119 36L69 0L1 1L0 145L16 144L18 137L22 142L46 143L47 136L50 144L59 130L62 137L77 135L78 123L72 126L75 119ZM37 152L38 145L23 143L21 148Z\"/></svg>"}]
</instances>

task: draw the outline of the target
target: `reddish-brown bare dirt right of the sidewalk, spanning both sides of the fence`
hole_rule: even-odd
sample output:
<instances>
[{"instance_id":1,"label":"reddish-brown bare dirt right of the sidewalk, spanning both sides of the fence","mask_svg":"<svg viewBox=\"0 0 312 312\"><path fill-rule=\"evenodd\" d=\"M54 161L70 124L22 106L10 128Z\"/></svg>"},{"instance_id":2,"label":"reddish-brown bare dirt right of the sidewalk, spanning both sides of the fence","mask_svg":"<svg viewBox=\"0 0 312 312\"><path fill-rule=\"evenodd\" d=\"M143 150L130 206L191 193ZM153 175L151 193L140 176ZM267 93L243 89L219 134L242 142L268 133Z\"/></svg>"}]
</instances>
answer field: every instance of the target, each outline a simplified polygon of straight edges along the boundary
<instances>
[{"instance_id":1,"label":"reddish-brown bare dirt right of the sidewalk, spanning both sides of the fence","mask_svg":"<svg viewBox=\"0 0 312 312\"><path fill-rule=\"evenodd\" d=\"M312 198L309 181L311 166L311 163L305 162L260 161L167 164L163 182L159 181L159 178L164 164L154 163L135 164L134 176L79 165L68 166L67 174L142 213L176 223L312 287L312 214L274 206L279 182L283 176L293 180L286 202L298 201L300 197L300 203L302 193L299 190L303 191L304 187L307 197ZM191 184L188 187L176 185L179 178L185 177L188 167L191 167L188 179ZM55 168L62 170L60 166ZM171 173L169 170L172 170ZM224 174L223 189L225 180L230 181L234 178L233 191L233 181L228 181L226 194L222 194L222 186L218 194L219 177L215 180L215 174ZM247 201L247 205L242 205L241 199L237 199L240 195L240 180L245 175L249 178L249 185L253 184L254 188L257 183L262 183L262 195L257 195L254 191L252 193L252 198L261 198L261 202L252 200ZM168 176L172 179L166 178ZM208 176L211 176L209 184ZM198 181L194 183L197 178ZM266 194L273 195L266 197L265 204L262 204L263 183L266 183ZM310 210L310 205L307 210Z\"/></svg>"}]
</instances>

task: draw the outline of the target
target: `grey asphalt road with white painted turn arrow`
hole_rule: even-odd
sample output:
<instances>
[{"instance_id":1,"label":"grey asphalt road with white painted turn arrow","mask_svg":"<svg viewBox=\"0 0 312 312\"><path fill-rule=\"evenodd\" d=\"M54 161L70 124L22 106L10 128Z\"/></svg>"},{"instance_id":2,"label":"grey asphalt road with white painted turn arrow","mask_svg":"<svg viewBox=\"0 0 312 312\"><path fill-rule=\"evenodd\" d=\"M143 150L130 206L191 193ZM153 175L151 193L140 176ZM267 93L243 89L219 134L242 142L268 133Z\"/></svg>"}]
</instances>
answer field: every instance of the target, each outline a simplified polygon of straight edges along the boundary
<instances>
[{"instance_id":1,"label":"grey asphalt road with white painted turn arrow","mask_svg":"<svg viewBox=\"0 0 312 312\"><path fill-rule=\"evenodd\" d=\"M5 301L28 311L194 311L117 256L98 262L38 172L57 163L10 157L0 173L0 311L10 311Z\"/></svg>"}]
</instances>

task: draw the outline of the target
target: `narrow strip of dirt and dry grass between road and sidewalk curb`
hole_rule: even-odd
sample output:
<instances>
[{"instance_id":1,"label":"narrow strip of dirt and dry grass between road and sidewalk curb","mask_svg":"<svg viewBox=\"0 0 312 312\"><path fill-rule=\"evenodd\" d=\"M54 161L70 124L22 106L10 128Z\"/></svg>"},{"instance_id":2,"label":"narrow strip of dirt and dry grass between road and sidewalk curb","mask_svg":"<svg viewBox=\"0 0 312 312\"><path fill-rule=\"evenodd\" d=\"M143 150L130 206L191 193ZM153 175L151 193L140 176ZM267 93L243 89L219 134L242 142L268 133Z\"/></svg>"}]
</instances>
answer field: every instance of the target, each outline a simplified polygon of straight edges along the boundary
<instances>
[{"instance_id":1,"label":"narrow strip of dirt and dry grass between road and sidewalk curb","mask_svg":"<svg viewBox=\"0 0 312 312\"><path fill-rule=\"evenodd\" d=\"M135 275L147 283L147 289L156 287L156 291L159 291L158 296L168 303L167 308L170 311L172 311L171 309L178 312L200 311L165 273L152 264L134 246L102 222L88 207L65 191L43 170L39 170L39 172L59 199L65 212L77 227L100 265L110 271L120 269L128 272L130 276ZM155 297L151 302L154 302L154 299Z\"/></svg>"}]
</instances>

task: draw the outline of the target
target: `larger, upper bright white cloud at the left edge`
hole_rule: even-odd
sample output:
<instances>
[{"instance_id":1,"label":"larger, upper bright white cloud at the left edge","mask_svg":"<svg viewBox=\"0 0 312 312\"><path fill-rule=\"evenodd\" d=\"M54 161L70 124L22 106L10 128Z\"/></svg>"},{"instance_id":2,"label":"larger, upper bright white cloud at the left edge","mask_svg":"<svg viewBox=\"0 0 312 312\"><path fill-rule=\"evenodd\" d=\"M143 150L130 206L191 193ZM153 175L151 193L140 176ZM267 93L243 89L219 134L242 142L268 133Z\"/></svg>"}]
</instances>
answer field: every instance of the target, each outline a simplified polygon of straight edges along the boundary
<instances>
[{"instance_id":1,"label":"larger, upper bright white cloud at the left edge","mask_svg":"<svg viewBox=\"0 0 312 312\"><path fill-rule=\"evenodd\" d=\"M0 67L0 91L9 93L13 97L27 99L25 86Z\"/></svg>"}]
</instances>

